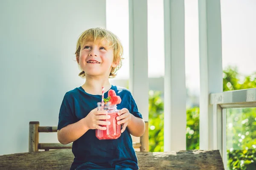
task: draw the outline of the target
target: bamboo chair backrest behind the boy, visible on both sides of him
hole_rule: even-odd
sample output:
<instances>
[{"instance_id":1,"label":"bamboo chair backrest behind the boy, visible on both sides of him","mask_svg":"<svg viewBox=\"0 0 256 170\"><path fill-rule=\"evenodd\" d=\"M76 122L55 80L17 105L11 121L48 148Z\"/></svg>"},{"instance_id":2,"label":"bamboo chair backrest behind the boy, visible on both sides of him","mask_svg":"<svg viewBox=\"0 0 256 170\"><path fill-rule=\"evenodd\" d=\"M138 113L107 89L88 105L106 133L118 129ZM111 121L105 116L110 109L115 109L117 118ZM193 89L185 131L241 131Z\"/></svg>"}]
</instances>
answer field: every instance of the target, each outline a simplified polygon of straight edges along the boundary
<instances>
[{"instance_id":1,"label":"bamboo chair backrest behind the boy, visible on both sides of him","mask_svg":"<svg viewBox=\"0 0 256 170\"><path fill-rule=\"evenodd\" d=\"M140 137L140 143L133 142L134 149L148 152L148 122L145 122L145 133ZM39 143L39 133L57 132L56 126L39 126L39 122L29 122L29 152L38 150L49 151L52 149L71 149L72 144L61 143Z\"/></svg>"}]
</instances>

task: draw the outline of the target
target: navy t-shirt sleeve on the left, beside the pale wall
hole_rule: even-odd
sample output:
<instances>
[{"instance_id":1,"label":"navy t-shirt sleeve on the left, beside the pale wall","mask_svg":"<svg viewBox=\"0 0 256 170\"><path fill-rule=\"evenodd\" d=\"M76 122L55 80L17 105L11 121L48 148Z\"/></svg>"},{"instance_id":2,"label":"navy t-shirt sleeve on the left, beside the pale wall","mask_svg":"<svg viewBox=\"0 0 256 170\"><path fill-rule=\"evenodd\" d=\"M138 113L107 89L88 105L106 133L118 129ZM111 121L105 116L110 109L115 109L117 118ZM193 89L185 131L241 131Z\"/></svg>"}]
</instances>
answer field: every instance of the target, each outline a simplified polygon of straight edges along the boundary
<instances>
[{"instance_id":1,"label":"navy t-shirt sleeve on the left, beside the pale wall","mask_svg":"<svg viewBox=\"0 0 256 170\"><path fill-rule=\"evenodd\" d=\"M73 112L74 109L72 108L72 101L73 98L66 93L62 100L59 112L58 130L61 130L61 128L76 122L76 116Z\"/></svg>"}]
</instances>

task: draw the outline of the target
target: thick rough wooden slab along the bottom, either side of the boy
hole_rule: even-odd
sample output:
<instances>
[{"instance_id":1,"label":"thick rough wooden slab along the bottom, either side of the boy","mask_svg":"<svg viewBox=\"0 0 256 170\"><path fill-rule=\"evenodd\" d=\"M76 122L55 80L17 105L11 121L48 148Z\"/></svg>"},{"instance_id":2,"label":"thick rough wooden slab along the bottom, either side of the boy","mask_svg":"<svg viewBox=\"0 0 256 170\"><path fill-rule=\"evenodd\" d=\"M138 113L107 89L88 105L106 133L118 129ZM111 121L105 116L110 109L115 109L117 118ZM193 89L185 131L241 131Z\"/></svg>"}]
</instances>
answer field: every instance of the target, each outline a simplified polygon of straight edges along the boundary
<instances>
[{"instance_id":1,"label":"thick rough wooden slab along the bottom, either side of the boy","mask_svg":"<svg viewBox=\"0 0 256 170\"><path fill-rule=\"evenodd\" d=\"M136 152L140 170L224 170L219 150ZM69 170L71 149L0 156L0 170Z\"/></svg>"}]
</instances>

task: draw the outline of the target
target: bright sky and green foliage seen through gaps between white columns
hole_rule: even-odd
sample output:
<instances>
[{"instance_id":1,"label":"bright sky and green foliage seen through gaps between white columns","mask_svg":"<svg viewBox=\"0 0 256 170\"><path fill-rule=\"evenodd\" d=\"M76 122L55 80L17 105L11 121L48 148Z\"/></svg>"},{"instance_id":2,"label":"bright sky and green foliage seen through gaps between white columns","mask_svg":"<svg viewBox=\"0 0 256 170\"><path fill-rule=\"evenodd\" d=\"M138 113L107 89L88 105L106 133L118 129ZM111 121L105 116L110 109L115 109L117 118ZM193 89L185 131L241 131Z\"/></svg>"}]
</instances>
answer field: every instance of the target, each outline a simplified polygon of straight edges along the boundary
<instances>
[{"instance_id":1,"label":"bright sky and green foliage seen through gaps between white columns","mask_svg":"<svg viewBox=\"0 0 256 170\"><path fill-rule=\"evenodd\" d=\"M255 9L255 0L221 0L224 91L256 88ZM112 82L127 87L128 16L128 0L107 0L107 28L119 36L125 48L124 65ZM150 151L154 152L163 151L163 29L163 0L148 0L149 142ZM187 149L199 149L198 36L198 0L185 0ZM256 169L256 159L253 159L256 157L256 108L226 110L227 162L224 164L233 170Z\"/></svg>"}]
</instances>

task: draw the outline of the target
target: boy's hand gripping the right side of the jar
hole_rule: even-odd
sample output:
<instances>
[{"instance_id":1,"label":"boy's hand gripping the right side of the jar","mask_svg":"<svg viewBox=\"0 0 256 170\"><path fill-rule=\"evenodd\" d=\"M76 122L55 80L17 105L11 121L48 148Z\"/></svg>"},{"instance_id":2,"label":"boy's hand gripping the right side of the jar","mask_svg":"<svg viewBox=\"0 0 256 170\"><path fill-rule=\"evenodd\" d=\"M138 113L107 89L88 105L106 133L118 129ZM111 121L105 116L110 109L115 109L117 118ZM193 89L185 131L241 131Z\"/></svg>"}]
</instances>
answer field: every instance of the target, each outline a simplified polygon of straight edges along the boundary
<instances>
[{"instance_id":1,"label":"boy's hand gripping the right side of the jar","mask_svg":"<svg viewBox=\"0 0 256 170\"><path fill-rule=\"evenodd\" d=\"M127 108L123 108L119 112L117 112L119 116L116 117L117 125L123 124L121 133L125 131L125 128L128 126L129 122L131 121L131 113L128 111Z\"/></svg>"}]
</instances>

